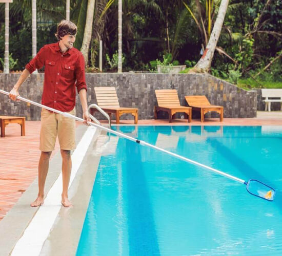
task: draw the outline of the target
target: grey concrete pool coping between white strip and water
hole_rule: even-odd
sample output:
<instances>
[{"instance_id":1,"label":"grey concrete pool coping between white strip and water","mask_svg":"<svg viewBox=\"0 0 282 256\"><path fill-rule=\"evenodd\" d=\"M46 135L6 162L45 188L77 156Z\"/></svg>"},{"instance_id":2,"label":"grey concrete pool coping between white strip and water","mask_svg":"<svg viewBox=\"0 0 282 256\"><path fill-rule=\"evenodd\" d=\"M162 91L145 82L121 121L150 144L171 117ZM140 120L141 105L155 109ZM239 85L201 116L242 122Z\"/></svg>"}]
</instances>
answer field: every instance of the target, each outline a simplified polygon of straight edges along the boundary
<instances>
[{"instance_id":1,"label":"grey concrete pool coping between white strip and water","mask_svg":"<svg viewBox=\"0 0 282 256\"><path fill-rule=\"evenodd\" d=\"M100 130L94 134L87 154L69 189L69 197L74 207L61 207L39 255L76 254L101 157L101 154L91 156L89 148L96 147L98 136L104 134L106 132ZM94 158L94 161L87 161L88 157Z\"/></svg>"}]
</instances>

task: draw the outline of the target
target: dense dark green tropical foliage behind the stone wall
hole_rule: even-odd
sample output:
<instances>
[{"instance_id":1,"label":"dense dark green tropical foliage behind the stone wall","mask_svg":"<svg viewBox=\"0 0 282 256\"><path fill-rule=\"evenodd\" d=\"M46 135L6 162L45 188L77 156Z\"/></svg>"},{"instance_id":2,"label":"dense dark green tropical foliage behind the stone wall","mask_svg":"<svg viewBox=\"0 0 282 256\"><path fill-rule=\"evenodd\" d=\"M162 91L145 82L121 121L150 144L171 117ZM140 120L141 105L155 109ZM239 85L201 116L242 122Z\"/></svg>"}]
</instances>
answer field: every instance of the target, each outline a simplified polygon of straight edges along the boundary
<instances>
[{"instance_id":1,"label":"dense dark green tropical foliage behind the stone wall","mask_svg":"<svg viewBox=\"0 0 282 256\"><path fill-rule=\"evenodd\" d=\"M88 0L71 1L70 18L78 26L75 47L80 49ZM217 15L219 0L211 1L212 22ZM90 64L97 61L98 40L103 40L103 52L109 56L117 50L117 3L109 0L95 1L95 17L91 38ZM186 3L191 13L183 3ZM203 28L207 31L205 0L123 0L123 70L157 69L156 59L166 55L168 63L178 65L185 63L193 67L200 58L201 44L204 44ZM217 46L226 54L215 52L211 74L233 79L232 70L242 72L242 79L254 76L263 70L277 53L282 50L282 0L272 0L267 7L267 0L229 1L229 7L224 20L223 30ZM105 9L103 18L98 19ZM45 44L56 41L54 36L57 23L65 17L66 1L37 0L37 51ZM265 8L266 7L266 8ZM203 18L203 23L200 18ZM5 5L0 5L0 56L4 56L5 38ZM10 5L9 50L14 59L18 59L13 70L23 70L31 59L31 1L14 0ZM169 54L168 54L169 53ZM228 57L229 55L230 57ZM108 59L113 65L113 58ZM232 59L238 64L235 64ZM150 61L154 60L154 61ZM111 65L104 58L104 67ZM149 63L150 61L150 67ZM164 61L160 61L163 62ZM161 64L161 65L162 65ZM116 64L115 64L116 65ZM281 59L257 78L259 81L279 82L282 79ZM112 68L111 68L112 69ZM230 71L231 70L231 71ZM182 72L183 73L183 72ZM240 79L239 79L240 80Z\"/></svg>"}]
</instances>

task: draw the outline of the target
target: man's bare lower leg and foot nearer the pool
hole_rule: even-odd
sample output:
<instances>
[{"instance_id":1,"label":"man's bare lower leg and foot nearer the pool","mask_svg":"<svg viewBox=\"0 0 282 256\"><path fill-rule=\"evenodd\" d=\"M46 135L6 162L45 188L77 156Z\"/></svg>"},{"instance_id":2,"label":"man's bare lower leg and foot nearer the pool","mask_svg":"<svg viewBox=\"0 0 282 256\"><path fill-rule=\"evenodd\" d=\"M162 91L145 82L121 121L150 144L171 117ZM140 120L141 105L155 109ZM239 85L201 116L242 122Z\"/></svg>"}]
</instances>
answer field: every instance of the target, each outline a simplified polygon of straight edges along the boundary
<instances>
[{"instance_id":1,"label":"man's bare lower leg and foot nearer the pool","mask_svg":"<svg viewBox=\"0 0 282 256\"><path fill-rule=\"evenodd\" d=\"M72 203L68 199L68 188L71 175L71 152L70 150L61 150L62 155L62 176L63 176L63 193L62 204L65 207L72 207Z\"/></svg>"}]
</instances>

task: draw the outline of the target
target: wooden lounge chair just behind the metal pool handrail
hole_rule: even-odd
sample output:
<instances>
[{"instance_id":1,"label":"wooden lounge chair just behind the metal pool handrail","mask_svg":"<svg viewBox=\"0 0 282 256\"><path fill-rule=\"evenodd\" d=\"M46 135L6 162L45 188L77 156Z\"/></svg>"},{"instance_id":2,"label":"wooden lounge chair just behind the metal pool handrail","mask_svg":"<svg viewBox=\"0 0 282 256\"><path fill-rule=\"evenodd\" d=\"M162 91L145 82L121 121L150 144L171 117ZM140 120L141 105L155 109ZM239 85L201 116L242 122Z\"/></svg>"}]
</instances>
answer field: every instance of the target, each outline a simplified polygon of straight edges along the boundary
<instances>
[{"instance_id":1,"label":"wooden lounge chair just behind the metal pool handrail","mask_svg":"<svg viewBox=\"0 0 282 256\"><path fill-rule=\"evenodd\" d=\"M117 124L119 123L119 117L123 114L132 114L134 116L134 123L137 124L138 109L120 108L114 87L94 87L94 91L99 107L107 112L110 117L111 114L115 114ZM97 110L94 108L90 109L91 114L93 114L95 111Z\"/></svg>"}]
</instances>

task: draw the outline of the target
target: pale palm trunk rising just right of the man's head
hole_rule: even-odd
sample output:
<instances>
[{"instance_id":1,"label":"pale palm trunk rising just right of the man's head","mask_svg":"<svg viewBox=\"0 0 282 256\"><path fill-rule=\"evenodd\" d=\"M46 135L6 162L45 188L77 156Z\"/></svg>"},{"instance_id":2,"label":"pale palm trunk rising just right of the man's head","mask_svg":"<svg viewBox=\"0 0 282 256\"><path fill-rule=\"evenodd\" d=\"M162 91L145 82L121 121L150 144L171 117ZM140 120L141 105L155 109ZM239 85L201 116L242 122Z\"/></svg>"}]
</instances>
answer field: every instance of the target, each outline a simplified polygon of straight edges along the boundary
<instances>
[{"instance_id":1,"label":"pale palm trunk rising just right of the man's head","mask_svg":"<svg viewBox=\"0 0 282 256\"><path fill-rule=\"evenodd\" d=\"M80 51L84 56L85 66L87 66L88 63L88 52L89 52L89 45L91 41L91 35L92 35L94 6L95 6L95 0L88 0L84 36L83 36L82 48L80 49Z\"/></svg>"}]
</instances>

